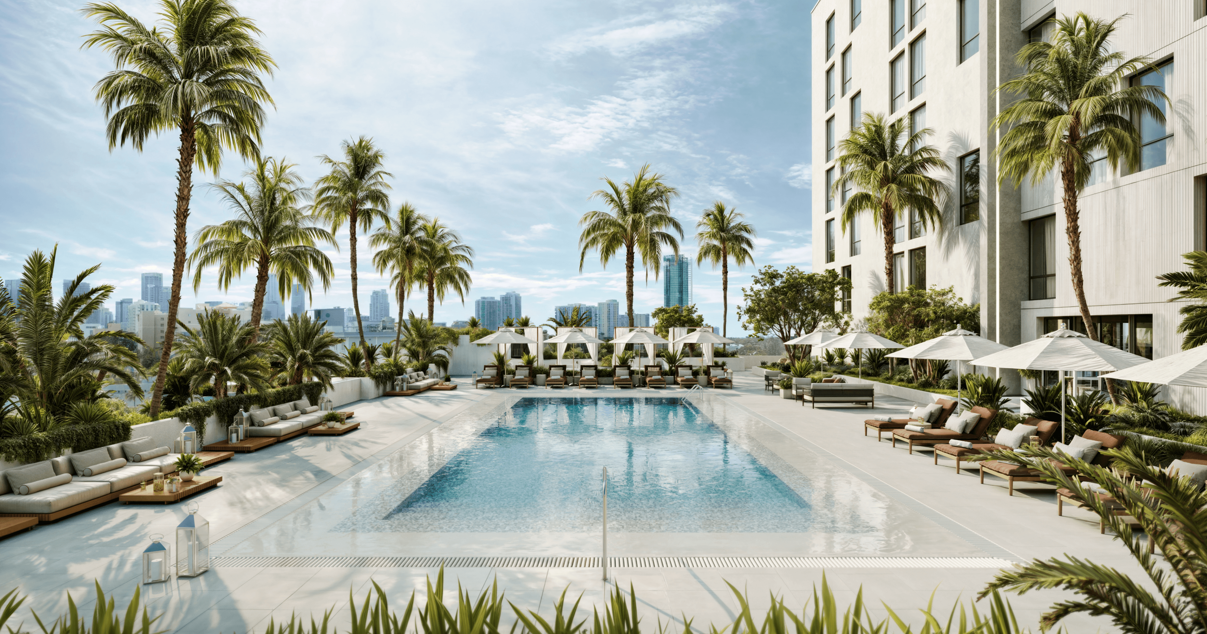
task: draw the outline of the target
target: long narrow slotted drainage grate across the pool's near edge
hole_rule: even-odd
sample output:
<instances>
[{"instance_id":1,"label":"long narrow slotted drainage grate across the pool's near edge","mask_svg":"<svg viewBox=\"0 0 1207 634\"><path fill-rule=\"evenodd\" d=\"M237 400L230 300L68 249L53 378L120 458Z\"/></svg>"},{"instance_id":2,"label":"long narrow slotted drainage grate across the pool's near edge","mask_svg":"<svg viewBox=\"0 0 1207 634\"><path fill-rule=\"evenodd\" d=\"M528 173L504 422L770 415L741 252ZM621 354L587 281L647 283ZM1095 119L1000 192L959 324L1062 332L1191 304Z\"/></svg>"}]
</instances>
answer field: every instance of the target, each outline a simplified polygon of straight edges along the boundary
<instances>
[{"instance_id":1,"label":"long narrow slotted drainage grate across the pool's near edge","mask_svg":"<svg viewBox=\"0 0 1207 634\"><path fill-rule=\"evenodd\" d=\"M608 557L610 568L1005 568L996 557ZM599 557L218 557L215 568L599 568Z\"/></svg>"}]
</instances>

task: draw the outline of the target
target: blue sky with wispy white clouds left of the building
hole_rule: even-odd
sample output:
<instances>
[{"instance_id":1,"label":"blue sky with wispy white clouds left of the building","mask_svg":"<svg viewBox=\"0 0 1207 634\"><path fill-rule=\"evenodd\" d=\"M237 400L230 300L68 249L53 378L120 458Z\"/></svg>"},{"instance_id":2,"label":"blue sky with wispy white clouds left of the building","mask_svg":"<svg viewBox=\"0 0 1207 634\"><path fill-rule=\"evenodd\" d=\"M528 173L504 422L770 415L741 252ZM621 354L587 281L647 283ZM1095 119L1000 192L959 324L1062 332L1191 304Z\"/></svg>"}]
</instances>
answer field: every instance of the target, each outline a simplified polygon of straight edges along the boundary
<instances>
[{"instance_id":1,"label":"blue sky with wispy white clouds left of the building","mask_svg":"<svg viewBox=\"0 0 1207 634\"><path fill-rule=\"evenodd\" d=\"M150 22L154 5L118 5ZM713 200L758 229L758 265L809 268L809 8L804 2L315 2L238 1L280 66L264 154L308 180L319 154L374 137L409 200L460 230L476 251L473 288L437 321L472 315L473 299L517 290L543 322L572 301L624 303L624 270L589 254L578 271L578 219L601 176L643 163L682 196L674 205L694 257L695 222ZM141 153L109 152L92 86L109 70L81 51L93 27L76 2L4 2L0 13L0 276L31 250L59 245L57 277L103 264L94 283L139 297L139 274L171 271L175 135ZM222 178L245 165L228 158ZM197 174L189 231L229 218ZM331 251L337 280L315 307L350 306L346 231ZM361 306L385 284L361 259ZM734 307L752 268L730 274ZM698 305L721 324L721 274L696 270ZM639 274L637 312L661 304ZM252 276L218 290L208 276L185 305L251 299ZM419 298L409 303L420 307ZM310 304L308 304L309 306ZM391 306L391 310L396 310Z\"/></svg>"}]
</instances>

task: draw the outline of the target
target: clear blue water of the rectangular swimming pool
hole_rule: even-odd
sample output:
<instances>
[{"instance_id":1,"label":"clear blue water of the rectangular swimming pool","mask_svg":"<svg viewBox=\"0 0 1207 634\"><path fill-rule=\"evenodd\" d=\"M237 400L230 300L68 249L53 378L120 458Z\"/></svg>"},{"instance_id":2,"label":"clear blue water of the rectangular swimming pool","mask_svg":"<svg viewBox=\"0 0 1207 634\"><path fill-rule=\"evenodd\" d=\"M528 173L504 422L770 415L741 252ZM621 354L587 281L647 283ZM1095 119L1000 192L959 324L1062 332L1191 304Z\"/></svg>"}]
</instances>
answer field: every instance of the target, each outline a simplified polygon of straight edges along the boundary
<instances>
[{"instance_id":1,"label":"clear blue water of the rectangular swimming pool","mask_svg":"<svg viewBox=\"0 0 1207 634\"><path fill-rule=\"evenodd\" d=\"M381 519L398 530L596 532L602 466L610 530L828 528L807 480L793 471L789 487L677 398L521 399Z\"/></svg>"}]
</instances>

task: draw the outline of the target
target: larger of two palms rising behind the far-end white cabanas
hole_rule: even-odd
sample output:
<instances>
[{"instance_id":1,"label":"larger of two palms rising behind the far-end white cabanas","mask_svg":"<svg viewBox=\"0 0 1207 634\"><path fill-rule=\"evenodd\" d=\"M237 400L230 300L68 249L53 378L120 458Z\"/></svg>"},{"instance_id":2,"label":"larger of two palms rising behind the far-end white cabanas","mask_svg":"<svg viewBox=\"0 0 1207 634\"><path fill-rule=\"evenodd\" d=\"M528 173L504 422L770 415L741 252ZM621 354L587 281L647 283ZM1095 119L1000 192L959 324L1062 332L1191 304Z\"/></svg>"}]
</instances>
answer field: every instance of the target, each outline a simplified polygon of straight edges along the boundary
<instances>
[{"instance_id":1,"label":"larger of two palms rising behind the far-end white cabanas","mask_svg":"<svg viewBox=\"0 0 1207 634\"><path fill-rule=\"evenodd\" d=\"M600 263L607 266L616 252L624 247L624 283L625 307L632 312L632 272L635 258L641 256L641 264L649 278L649 269L654 270L654 280L661 270L663 245L671 247L678 256L678 240L667 229L678 231L683 237L683 227L671 216L671 199L678 196L678 189L663 182L661 174L651 174L649 165L642 165L631 181L617 184L608 177L601 178L607 189L599 189L591 198L600 198L612 210L588 211L578 221L583 227L578 236L582 253L578 258L578 272L587 262L587 252L596 250Z\"/></svg>"}]
</instances>

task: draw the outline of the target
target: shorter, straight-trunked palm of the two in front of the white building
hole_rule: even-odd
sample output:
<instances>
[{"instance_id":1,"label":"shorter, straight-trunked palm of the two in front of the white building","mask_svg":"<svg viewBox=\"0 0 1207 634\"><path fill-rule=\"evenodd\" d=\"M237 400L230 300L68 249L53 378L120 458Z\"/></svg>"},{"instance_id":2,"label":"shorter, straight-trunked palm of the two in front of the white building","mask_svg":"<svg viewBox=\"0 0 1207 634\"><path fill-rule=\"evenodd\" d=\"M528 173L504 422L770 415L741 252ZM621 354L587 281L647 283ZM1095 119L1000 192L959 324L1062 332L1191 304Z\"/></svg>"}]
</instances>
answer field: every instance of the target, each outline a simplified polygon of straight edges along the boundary
<instances>
[{"instance_id":1,"label":"shorter, straight-trunked palm of the two in front of the white building","mask_svg":"<svg viewBox=\"0 0 1207 634\"><path fill-rule=\"evenodd\" d=\"M905 118L888 123L884 115L865 112L863 123L839 141L838 166L832 193L853 184L859 192L842 204L842 230L859 213L871 215L885 239L885 289L896 293L893 280L893 225L898 217L914 210L923 227L943 223L943 199L949 187L931 175L950 171L934 146L922 145L934 134L931 128L909 134Z\"/></svg>"}]
</instances>

